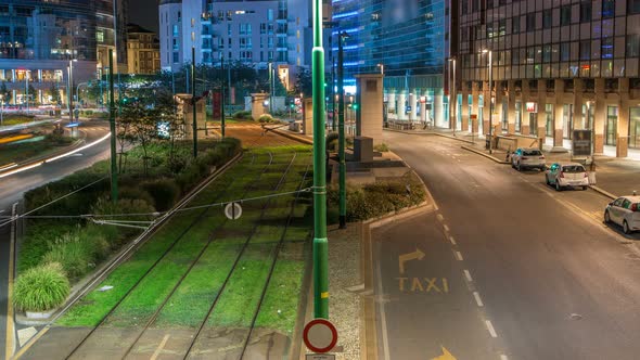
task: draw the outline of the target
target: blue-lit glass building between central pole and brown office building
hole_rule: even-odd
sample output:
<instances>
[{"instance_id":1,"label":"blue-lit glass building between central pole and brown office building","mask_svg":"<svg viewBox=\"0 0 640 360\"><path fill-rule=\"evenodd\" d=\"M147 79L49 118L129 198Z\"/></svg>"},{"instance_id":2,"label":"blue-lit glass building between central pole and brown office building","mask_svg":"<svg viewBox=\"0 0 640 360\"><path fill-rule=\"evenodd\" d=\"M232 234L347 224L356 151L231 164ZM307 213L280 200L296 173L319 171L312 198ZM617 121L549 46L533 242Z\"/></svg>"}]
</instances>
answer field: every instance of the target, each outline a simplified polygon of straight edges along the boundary
<instances>
[{"instance_id":1,"label":"blue-lit glass building between central pole and brown office building","mask_svg":"<svg viewBox=\"0 0 640 360\"><path fill-rule=\"evenodd\" d=\"M332 35L349 35L344 46L347 93L357 91L356 74L384 73L389 119L433 118L446 126L447 4L447 0L333 0L333 22L338 26ZM332 51L337 52L337 40Z\"/></svg>"}]
</instances>

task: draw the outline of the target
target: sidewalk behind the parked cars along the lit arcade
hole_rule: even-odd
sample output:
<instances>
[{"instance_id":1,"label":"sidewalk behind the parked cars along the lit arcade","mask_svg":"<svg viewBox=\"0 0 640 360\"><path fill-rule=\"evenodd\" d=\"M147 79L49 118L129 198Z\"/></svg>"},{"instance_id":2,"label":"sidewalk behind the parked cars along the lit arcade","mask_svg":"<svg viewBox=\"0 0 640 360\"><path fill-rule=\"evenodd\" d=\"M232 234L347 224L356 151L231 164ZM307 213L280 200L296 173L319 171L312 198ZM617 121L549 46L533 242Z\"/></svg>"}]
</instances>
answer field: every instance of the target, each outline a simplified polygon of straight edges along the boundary
<instances>
[{"instance_id":1,"label":"sidewalk behind the parked cars along the lit arcade","mask_svg":"<svg viewBox=\"0 0 640 360\"><path fill-rule=\"evenodd\" d=\"M387 130L387 129L385 129ZM485 149L485 137L473 137L469 132L456 131L450 129L433 129L433 130L389 130L399 131L412 134L434 134L455 139L461 142L463 149L474 152L478 155L491 158L494 162L509 166L507 152L504 150L494 150L491 154ZM542 153L547 157L547 165L555 162L569 162L571 153L551 153L552 139L547 139L547 143L542 147ZM571 150L571 140L564 141L564 147ZM605 196L615 198L617 196L630 195L633 191L640 193L640 181L638 175L640 173L640 151L629 149L629 156L626 158L617 158L615 156L615 146L604 146L604 155L596 155L594 164L597 171L597 185L593 190L602 193Z\"/></svg>"}]
</instances>

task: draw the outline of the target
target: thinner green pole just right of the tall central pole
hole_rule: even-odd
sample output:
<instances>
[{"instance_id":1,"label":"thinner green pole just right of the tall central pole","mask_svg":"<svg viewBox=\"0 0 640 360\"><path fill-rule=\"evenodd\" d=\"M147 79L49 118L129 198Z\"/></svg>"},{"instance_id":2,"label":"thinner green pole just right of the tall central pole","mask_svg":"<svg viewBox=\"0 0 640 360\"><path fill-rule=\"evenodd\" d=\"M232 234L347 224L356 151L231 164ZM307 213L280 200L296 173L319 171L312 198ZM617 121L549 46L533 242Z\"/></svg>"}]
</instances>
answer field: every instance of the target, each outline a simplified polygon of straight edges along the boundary
<instances>
[{"instance_id":1,"label":"thinner green pole just right of the tall central pole","mask_svg":"<svg viewBox=\"0 0 640 360\"><path fill-rule=\"evenodd\" d=\"M340 228L347 228L347 189L346 189L346 171L347 165L345 160L345 90L344 90L344 49L343 40L346 33L341 33L337 39L337 142L338 142L338 157L340 157Z\"/></svg>"}]
</instances>

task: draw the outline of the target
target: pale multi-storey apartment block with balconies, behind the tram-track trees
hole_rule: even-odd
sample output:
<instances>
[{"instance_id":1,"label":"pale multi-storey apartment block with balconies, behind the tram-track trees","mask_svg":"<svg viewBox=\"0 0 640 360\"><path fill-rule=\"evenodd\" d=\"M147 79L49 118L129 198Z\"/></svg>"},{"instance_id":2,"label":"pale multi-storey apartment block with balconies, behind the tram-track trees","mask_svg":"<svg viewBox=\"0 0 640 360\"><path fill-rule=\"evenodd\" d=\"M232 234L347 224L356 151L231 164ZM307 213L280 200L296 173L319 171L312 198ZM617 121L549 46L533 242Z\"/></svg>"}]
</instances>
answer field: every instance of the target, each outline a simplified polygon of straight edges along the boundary
<instances>
[{"instance_id":1,"label":"pale multi-storey apartment block with balconies, behind the tram-track trees","mask_svg":"<svg viewBox=\"0 0 640 360\"><path fill-rule=\"evenodd\" d=\"M159 5L161 66L177 70L220 60L255 64L310 65L310 1L163 0ZM284 67L283 67L284 68Z\"/></svg>"}]
</instances>

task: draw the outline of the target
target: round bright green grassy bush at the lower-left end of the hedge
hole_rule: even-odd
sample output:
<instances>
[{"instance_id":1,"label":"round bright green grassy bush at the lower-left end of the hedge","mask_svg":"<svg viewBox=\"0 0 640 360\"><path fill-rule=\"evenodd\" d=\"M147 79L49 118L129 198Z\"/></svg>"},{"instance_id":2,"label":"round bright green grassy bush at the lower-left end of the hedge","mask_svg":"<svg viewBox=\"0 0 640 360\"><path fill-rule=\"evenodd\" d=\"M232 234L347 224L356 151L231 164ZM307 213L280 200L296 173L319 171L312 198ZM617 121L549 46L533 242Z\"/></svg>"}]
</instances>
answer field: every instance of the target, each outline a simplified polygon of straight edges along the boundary
<instances>
[{"instance_id":1,"label":"round bright green grassy bush at the lower-left end of the hedge","mask_svg":"<svg viewBox=\"0 0 640 360\"><path fill-rule=\"evenodd\" d=\"M15 282L13 305L18 311L47 311L60 306L71 291L62 266L42 265L25 271Z\"/></svg>"}]
</instances>

